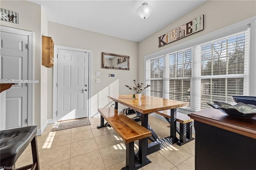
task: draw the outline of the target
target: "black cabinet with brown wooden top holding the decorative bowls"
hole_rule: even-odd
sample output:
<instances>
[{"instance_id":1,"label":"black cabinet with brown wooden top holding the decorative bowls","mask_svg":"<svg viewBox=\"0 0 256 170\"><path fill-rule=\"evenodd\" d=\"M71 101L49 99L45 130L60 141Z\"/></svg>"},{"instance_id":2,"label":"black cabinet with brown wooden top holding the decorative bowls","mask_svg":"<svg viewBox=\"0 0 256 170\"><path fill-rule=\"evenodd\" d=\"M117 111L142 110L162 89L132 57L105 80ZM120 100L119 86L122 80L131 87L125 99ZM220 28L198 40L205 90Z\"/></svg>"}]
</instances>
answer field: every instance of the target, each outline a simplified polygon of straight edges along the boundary
<instances>
[{"instance_id":1,"label":"black cabinet with brown wooden top holding the decorative bowls","mask_svg":"<svg viewBox=\"0 0 256 170\"><path fill-rule=\"evenodd\" d=\"M194 119L196 170L251 170L256 161L256 119L228 116L217 109L188 115Z\"/></svg>"}]
</instances>

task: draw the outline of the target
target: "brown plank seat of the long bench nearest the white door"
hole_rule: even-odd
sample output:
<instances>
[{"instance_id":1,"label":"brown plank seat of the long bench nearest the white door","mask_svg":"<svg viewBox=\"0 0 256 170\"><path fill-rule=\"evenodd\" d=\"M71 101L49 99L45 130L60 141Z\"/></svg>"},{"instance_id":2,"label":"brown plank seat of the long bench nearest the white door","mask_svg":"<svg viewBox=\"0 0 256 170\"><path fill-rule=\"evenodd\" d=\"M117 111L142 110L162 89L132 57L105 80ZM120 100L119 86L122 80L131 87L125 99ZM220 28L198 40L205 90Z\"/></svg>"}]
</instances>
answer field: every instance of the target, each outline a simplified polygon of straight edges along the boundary
<instances>
[{"instance_id":1,"label":"brown plank seat of the long bench nearest the white door","mask_svg":"<svg viewBox=\"0 0 256 170\"><path fill-rule=\"evenodd\" d=\"M98 109L98 111L125 143L151 136L150 130L142 127L113 107Z\"/></svg>"}]
</instances>

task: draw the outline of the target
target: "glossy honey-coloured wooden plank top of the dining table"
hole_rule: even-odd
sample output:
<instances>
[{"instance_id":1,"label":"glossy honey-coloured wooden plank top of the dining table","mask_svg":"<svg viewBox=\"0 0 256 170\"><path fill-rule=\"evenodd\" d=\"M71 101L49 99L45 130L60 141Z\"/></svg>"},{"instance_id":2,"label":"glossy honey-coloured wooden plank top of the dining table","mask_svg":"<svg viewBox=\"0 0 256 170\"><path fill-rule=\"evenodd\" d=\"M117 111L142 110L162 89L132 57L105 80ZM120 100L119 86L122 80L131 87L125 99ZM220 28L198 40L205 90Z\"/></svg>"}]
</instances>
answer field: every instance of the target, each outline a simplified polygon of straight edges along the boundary
<instances>
[{"instance_id":1,"label":"glossy honey-coloured wooden plank top of the dining table","mask_svg":"<svg viewBox=\"0 0 256 170\"><path fill-rule=\"evenodd\" d=\"M186 106L188 104L182 101L175 101L171 99L146 95L142 95L141 99L134 99L132 98L132 95L108 96L108 98L122 105L130 107L131 109L134 109L135 111L138 111L142 114L175 109L178 107Z\"/></svg>"}]
</instances>

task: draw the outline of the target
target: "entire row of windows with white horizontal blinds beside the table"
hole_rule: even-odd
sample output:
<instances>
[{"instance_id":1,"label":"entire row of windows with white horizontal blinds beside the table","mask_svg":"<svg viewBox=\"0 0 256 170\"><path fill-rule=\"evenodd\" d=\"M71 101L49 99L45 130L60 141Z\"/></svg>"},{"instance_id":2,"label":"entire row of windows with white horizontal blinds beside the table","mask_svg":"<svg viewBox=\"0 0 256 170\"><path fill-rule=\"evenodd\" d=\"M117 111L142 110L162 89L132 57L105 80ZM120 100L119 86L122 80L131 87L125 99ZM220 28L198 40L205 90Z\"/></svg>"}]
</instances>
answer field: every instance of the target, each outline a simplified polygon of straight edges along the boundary
<instances>
[{"instance_id":1,"label":"entire row of windows with white horizontal blinds beside the table","mask_svg":"<svg viewBox=\"0 0 256 170\"><path fill-rule=\"evenodd\" d=\"M248 95L248 30L146 60L147 95L206 109Z\"/></svg>"}]
</instances>

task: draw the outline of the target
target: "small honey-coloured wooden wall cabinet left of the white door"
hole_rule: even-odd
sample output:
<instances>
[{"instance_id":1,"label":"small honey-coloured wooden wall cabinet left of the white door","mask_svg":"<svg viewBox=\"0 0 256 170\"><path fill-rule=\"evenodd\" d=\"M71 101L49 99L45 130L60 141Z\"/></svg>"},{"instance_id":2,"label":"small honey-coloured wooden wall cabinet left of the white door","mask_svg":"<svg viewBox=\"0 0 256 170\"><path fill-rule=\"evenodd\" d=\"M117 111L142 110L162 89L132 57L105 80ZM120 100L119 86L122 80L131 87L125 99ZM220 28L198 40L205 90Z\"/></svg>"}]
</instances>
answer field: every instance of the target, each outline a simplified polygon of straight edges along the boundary
<instances>
[{"instance_id":1,"label":"small honey-coloured wooden wall cabinet left of the white door","mask_svg":"<svg viewBox=\"0 0 256 170\"><path fill-rule=\"evenodd\" d=\"M42 36L42 65L50 68L53 66L53 47L54 42L51 37Z\"/></svg>"}]
</instances>

